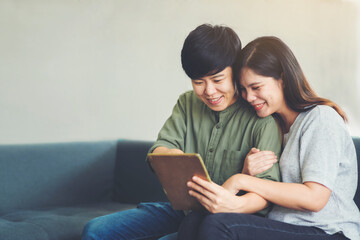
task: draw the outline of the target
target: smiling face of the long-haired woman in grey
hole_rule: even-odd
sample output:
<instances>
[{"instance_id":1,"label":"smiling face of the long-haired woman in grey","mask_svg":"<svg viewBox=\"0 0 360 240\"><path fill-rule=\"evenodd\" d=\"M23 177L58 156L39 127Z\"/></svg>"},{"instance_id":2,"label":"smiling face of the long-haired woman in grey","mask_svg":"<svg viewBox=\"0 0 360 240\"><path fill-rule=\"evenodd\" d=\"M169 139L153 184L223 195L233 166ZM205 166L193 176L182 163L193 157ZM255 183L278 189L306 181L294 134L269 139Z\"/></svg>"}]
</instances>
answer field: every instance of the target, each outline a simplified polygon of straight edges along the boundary
<instances>
[{"instance_id":1,"label":"smiling face of the long-haired woman in grey","mask_svg":"<svg viewBox=\"0 0 360 240\"><path fill-rule=\"evenodd\" d=\"M259 117L283 113L288 107L283 92L283 81L256 74L250 68L240 73L241 96L254 107Z\"/></svg>"}]
</instances>

